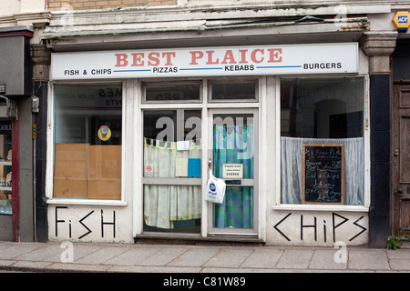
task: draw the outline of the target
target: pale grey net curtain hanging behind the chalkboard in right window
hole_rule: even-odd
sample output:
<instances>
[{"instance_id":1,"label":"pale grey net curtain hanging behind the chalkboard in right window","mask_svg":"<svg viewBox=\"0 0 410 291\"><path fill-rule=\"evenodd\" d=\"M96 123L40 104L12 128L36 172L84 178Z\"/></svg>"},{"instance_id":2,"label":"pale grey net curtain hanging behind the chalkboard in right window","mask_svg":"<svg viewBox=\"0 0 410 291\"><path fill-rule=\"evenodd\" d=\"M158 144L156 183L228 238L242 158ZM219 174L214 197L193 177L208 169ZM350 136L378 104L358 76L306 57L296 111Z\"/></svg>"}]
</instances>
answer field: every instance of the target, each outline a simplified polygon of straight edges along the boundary
<instances>
[{"instance_id":1,"label":"pale grey net curtain hanging behind the chalkboard in right window","mask_svg":"<svg viewBox=\"0 0 410 291\"><path fill-rule=\"evenodd\" d=\"M364 205L364 137L323 139L281 137L282 204L302 203L302 145L344 145L344 204Z\"/></svg>"}]
</instances>

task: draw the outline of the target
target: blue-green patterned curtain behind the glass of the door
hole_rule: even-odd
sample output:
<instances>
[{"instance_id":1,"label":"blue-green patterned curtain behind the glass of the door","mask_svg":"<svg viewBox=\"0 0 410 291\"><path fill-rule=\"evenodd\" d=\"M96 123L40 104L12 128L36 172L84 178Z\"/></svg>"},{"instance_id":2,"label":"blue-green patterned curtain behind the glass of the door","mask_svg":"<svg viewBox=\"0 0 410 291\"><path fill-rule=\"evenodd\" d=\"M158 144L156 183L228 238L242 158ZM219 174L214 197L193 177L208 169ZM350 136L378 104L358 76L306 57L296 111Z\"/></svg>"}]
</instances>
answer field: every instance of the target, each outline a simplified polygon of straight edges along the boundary
<instances>
[{"instance_id":1,"label":"blue-green patterned curtain behind the glass of the door","mask_svg":"<svg viewBox=\"0 0 410 291\"><path fill-rule=\"evenodd\" d=\"M253 125L214 125L213 171L222 177L223 164L242 164L243 178L253 178ZM230 186L222 204L213 209L214 227L253 228L253 187Z\"/></svg>"}]
</instances>

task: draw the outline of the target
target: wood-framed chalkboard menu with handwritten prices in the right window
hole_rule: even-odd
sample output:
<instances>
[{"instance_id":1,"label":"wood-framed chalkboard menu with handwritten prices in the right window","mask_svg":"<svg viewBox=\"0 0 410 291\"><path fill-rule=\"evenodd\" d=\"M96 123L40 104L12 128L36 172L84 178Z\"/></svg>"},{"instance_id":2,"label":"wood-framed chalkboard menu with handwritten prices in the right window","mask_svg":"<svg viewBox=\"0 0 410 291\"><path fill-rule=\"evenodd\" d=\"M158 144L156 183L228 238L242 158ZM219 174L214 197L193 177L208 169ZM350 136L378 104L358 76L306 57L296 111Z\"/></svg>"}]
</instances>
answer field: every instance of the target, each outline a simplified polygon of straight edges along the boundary
<instances>
[{"instance_id":1,"label":"wood-framed chalkboard menu with handwritten prices in the right window","mask_svg":"<svg viewBox=\"0 0 410 291\"><path fill-rule=\"evenodd\" d=\"M343 181L343 145L302 146L303 204L343 204Z\"/></svg>"}]
</instances>

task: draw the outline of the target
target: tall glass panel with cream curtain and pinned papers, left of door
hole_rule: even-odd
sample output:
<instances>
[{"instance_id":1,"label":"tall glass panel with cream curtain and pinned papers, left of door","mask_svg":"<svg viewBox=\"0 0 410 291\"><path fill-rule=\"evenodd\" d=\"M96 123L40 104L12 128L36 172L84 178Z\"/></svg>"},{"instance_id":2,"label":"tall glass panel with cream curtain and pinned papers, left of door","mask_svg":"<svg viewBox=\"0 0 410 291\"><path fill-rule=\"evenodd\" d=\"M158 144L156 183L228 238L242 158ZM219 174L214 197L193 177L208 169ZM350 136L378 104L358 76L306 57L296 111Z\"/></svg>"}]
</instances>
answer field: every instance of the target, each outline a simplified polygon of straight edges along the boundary
<instances>
[{"instance_id":1,"label":"tall glass panel with cream curtain and pinned papers, left of door","mask_svg":"<svg viewBox=\"0 0 410 291\"><path fill-rule=\"evenodd\" d=\"M201 111L144 111L143 146L144 231L200 233Z\"/></svg>"}]
</instances>

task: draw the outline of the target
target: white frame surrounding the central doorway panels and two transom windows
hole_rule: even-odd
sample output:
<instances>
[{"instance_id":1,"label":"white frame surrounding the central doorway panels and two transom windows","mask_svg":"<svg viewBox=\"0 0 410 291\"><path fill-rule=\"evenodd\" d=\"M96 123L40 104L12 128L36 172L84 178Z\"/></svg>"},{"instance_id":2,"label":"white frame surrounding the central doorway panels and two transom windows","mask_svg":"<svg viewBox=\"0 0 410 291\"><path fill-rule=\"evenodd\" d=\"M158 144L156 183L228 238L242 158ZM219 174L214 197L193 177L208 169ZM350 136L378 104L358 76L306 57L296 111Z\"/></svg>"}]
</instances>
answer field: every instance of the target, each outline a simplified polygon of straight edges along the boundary
<instances>
[{"instance_id":1,"label":"white frame surrounding the central doorway panels and two transom windows","mask_svg":"<svg viewBox=\"0 0 410 291\"><path fill-rule=\"evenodd\" d=\"M217 78L198 78L198 77L193 77L193 78L175 78L175 79L167 79L167 80L159 80L157 79L136 79L135 80L135 86L134 86L134 99L137 100L134 102L134 123L133 127L135 128L135 135L134 135L134 141L133 144L137 145L134 146L133 150L133 165L134 165L134 175L136 180L138 181L143 181L143 149L141 146L138 145L143 145L143 124L141 120L143 120L143 114L144 110L155 110L155 109L164 109L166 106L167 109L169 110L177 110L177 109L197 109L201 110L201 120L202 120L202 126L201 126L201 138L202 138L202 145L208 145L209 144L209 123L208 123L208 118L209 118L209 111L212 109L228 109L228 108L235 108L235 109L246 109L246 108L254 108L257 110L261 110L261 90L266 84L265 81L266 77L261 76L261 77L255 77L255 76L250 76L248 78L244 77L226 77L223 78L223 81L229 82L229 81L251 81L251 82L256 82L256 94L259 96L257 97L257 100L245 100L245 102L236 102L235 100L230 100L230 101L223 101L223 102L211 102L210 101L210 82L212 80L217 80ZM172 81L179 81L179 82L190 82L190 81L198 81L200 80L201 82L201 96L200 96L200 102L197 100L194 100L192 102L176 102L176 103L169 103L169 102L160 102L160 101L155 101L155 102L146 102L145 101L145 96L144 96L144 90L143 90L143 85L148 82L152 83L159 83L163 82L164 84L167 84ZM258 111L258 112L259 112ZM258 113L259 114L259 113ZM258 118L258 128L261 131L261 115L259 115ZM259 143L259 152L261 152L261 143ZM208 182L208 160L210 156L208 153L208 150L206 148L202 148L202 162L201 162L201 188L202 192L204 189L206 189L207 182ZM259 157L261 159L261 156ZM261 164L262 163L257 163L258 169L255 169L255 172L261 173ZM261 178L259 178L258 182L259 185L261 185ZM265 211L263 203L263 199L265 198L264 194L262 195L261 187L258 189L259 194L258 194L258 205L256 206L257 211L255 211L254 214L254 219L255 221L258 221L257 226L254 227L256 232L258 233L258 239L260 239L264 235L264 220L265 220ZM200 222L200 234L181 234L181 233L161 233L161 232L145 232L143 230L143 213L144 213L144 204L143 204L143 183L134 183L133 186L133 236L134 237L145 237L147 236L157 236L157 237L192 237L192 236L197 236L197 237L209 237L209 233L211 231L210 225L209 225L209 209L211 207L210 203L208 203L205 200L202 200L202 216L201 216L201 222ZM229 234L228 234L229 235ZM254 236L255 234L252 234Z\"/></svg>"}]
</instances>

